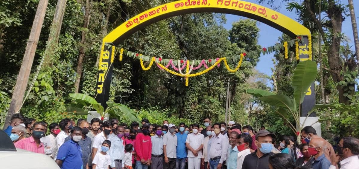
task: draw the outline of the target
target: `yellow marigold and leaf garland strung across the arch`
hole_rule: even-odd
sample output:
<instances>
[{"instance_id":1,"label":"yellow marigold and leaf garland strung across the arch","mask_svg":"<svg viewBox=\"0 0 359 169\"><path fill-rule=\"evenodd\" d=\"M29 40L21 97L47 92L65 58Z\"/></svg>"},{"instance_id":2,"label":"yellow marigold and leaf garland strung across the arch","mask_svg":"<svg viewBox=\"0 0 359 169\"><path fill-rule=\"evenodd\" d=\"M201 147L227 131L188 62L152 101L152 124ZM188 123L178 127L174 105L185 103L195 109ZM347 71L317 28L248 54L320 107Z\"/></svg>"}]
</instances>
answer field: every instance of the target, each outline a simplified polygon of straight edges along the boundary
<instances>
[{"instance_id":1,"label":"yellow marigold and leaf garland strung across the arch","mask_svg":"<svg viewBox=\"0 0 359 169\"><path fill-rule=\"evenodd\" d=\"M186 86L188 86L188 78L190 77L195 77L195 76L200 76L204 73L207 73L208 71L212 70L213 68L215 68L216 66L219 67L220 63L223 61L225 68L229 71L229 72L237 72L239 70L239 68L242 65L243 62L243 58L244 57L248 57L248 58L252 58L254 56L260 55L260 53L262 52L263 55L265 54L270 54L273 53L277 50L284 50L284 57L285 59L288 59L288 47L293 47L295 45L295 58L297 60L299 60L299 41L301 40L301 37L295 38L293 40L284 42L284 43L280 43L280 44L276 44L274 46L268 47L268 48L262 48L261 51L253 51L253 52L248 52L248 53L241 53L240 55L236 55L233 57L222 57L222 58L216 58L216 59L202 59L202 60L194 60L194 61L189 61L189 60L173 60L173 59L162 59L162 57L160 58L156 58L156 57L149 57L149 56L145 56L142 54L138 54L138 53L134 53L134 52L130 52L130 51L126 51L123 48L121 48L120 50L116 50L116 52L119 51L120 53L120 58L119 60L122 61L122 57L123 54L126 54L127 56L133 57L133 58L137 58L140 60L140 64L141 67L144 71L148 71L153 63L155 63L157 65L157 67L159 69L162 69L164 71L167 71L171 74L174 74L176 76L180 76L180 77L184 77L185 78L185 84ZM308 40L309 40L309 59L311 59L312 55L311 55L311 36L308 35ZM114 50L115 48L112 48L113 53L114 54ZM101 60L102 58L100 58ZM145 67L144 65L144 61L145 62L149 62L148 67ZM111 57L111 63L113 62L113 57ZM229 67L228 62L230 62L230 64L235 64L237 63L237 67L234 69L231 69ZM191 64L191 65L190 65ZM164 66L166 65L166 66ZM210 65L210 66L209 66ZM171 69L169 69L169 67L171 66ZM204 67L204 70L197 72L197 73L193 73L191 74L191 72L193 70L199 69L201 67ZM182 70L186 68L186 73L182 73ZM176 72L178 71L178 72Z\"/></svg>"}]
</instances>

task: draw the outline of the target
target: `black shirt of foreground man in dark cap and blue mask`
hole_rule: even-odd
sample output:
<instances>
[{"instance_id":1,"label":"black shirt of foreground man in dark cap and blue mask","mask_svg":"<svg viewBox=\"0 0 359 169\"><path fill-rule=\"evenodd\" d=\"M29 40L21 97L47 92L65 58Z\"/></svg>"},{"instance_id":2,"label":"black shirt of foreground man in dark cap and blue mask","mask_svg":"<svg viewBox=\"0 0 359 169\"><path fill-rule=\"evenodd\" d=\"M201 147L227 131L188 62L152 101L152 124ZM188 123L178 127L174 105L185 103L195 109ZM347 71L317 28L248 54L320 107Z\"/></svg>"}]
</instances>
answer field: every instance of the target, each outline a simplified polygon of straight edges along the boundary
<instances>
[{"instance_id":1,"label":"black shirt of foreground man in dark cap and blue mask","mask_svg":"<svg viewBox=\"0 0 359 169\"><path fill-rule=\"evenodd\" d=\"M270 152L258 158L256 150L244 158L242 169L269 169L269 157L273 154Z\"/></svg>"}]
</instances>

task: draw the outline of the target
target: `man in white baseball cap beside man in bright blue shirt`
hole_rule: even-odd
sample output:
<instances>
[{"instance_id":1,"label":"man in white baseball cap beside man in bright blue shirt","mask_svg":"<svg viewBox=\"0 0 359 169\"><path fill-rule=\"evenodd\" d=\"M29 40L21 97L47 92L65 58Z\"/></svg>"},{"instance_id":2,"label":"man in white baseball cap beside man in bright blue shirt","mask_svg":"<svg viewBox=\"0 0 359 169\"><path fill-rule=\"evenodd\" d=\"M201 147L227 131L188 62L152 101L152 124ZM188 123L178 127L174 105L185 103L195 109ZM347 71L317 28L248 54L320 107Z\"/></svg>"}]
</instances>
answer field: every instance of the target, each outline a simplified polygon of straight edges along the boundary
<instances>
[{"instance_id":1,"label":"man in white baseball cap beside man in bright blue shirt","mask_svg":"<svg viewBox=\"0 0 359 169\"><path fill-rule=\"evenodd\" d=\"M163 154L164 154L164 169L176 168L177 159L177 136L174 134L176 126L174 124L168 125L167 134L163 135Z\"/></svg>"}]
</instances>

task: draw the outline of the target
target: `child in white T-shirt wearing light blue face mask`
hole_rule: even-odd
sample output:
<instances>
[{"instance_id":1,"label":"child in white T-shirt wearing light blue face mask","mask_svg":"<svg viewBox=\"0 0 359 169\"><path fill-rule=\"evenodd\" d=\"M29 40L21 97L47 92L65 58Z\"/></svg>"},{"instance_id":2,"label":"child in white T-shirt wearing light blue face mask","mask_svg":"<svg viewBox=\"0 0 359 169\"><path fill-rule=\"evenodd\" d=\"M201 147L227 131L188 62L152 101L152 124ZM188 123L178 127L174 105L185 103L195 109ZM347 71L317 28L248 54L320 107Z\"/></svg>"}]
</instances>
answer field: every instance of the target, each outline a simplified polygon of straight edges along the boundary
<instances>
[{"instance_id":1,"label":"child in white T-shirt wearing light blue face mask","mask_svg":"<svg viewBox=\"0 0 359 169\"><path fill-rule=\"evenodd\" d=\"M107 151L111 147L111 141L105 140L102 143L101 151L95 155L95 158L92 160L93 169L107 169L111 165L110 155L107 154Z\"/></svg>"}]
</instances>

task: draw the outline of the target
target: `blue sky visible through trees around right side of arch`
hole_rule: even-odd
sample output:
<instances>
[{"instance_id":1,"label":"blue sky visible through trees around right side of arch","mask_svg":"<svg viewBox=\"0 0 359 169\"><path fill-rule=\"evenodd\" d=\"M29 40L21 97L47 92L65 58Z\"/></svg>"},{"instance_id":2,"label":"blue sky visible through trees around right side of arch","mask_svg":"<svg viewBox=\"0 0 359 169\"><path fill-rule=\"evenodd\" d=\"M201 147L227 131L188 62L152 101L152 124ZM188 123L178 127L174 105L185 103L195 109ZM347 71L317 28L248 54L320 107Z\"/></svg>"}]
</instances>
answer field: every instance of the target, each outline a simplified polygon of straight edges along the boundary
<instances>
[{"instance_id":1,"label":"blue sky visible through trees around right side of arch","mask_svg":"<svg viewBox=\"0 0 359 169\"><path fill-rule=\"evenodd\" d=\"M251 3L256 3L256 0L246 0L248 2ZM277 6L281 6L281 9L279 10L279 13L284 14L286 16L288 16L289 18L292 18L295 20L295 18L297 17L297 15L293 12L289 12L287 11L286 8L286 3L280 3L280 0L276 0L276 5ZM341 0L342 4L348 5L348 1L347 0ZM302 2L302 0L300 0L300 2ZM269 5L267 4L261 4L262 6L265 6L266 8L270 8ZM356 14L356 23L359 24L359 1L354 1L354 11ZM349 14L349 13L348 13ZM238 21L240 19L246 19L245 17L242 16L237 16L237 15L230 15L227 14L226 15L227 18L227 23L224 25L224 27L226 29L230 29L232 28L232 23L235 21ZM323 15L322 15L323 18ZM261 47L269 47L274 45L275 43L278 42L278 37L281 36L282 32L280 32L279 30L272 28L269 25L266 25L264 23L261 22L257 22L257 26L260 29L260 37L258 39L258 44L261 45ZM358 25L359 26L359 25ZM349 43L349 45L353 45L352 50L355 51L354 49L354 39L353 39L353 29L351 26L351 19L350 16L347 17L345 19L345 21L342 24L342 32L345 33L351 40L351 42ZM274 59L273 54L266 54L265 56L261 55L261 57L259 58L259 62L256 66L256 68L258 69L259 72L265 73L268 76L272 75L271 72L271 68L273 67L273 62L272 59Z\"/></svg>"}]
</instances>

